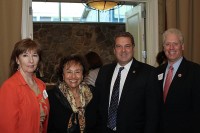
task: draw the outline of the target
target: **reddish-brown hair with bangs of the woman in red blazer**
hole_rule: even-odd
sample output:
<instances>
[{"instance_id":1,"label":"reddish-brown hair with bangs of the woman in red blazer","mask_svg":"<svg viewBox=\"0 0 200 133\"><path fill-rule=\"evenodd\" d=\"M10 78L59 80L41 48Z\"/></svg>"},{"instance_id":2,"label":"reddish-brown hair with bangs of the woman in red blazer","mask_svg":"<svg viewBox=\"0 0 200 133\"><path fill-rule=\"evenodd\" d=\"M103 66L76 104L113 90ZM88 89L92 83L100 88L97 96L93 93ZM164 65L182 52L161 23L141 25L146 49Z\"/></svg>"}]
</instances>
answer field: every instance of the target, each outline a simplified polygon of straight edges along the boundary
<instances>
[{"instance_id":1,"label":"reddish-brown hair with bangs of the woman in red blazer","mask_svg":"<svg viewBox=\"0 0 200 133\"><path fill-rule=\"evenodd\" d=\"M27 50L36 50L39 56L39 63L41 62L42 52L39 43L33 41L30 38L22 39L15 44L14 49L12 51L12 55L10 58L10 75L13 75L18 69L16 58L18 58L20 54L26 52Z\"/></svg>"}]
</instances>

